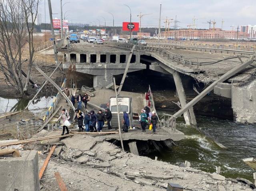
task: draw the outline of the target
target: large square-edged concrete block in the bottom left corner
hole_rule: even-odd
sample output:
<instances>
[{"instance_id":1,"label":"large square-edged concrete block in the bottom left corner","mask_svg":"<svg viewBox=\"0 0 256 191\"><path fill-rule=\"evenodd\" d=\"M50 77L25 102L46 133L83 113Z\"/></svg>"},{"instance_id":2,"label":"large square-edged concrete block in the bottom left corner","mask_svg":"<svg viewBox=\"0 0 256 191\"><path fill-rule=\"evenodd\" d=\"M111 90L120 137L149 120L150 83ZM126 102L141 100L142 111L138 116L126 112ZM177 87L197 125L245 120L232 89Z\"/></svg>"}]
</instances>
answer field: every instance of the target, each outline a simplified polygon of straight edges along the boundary
<instances>
[{"instance_id":1,"label":"large square-edged concrete block in the bottom left corner","mask_svg":"<svg viewBox=\"0 0 256 191\"><path fill-rule=\"evenodd\" d=\"M20 155L17 158L6 156L0 159L0 190L18 191L22 188L26 191L40 191L37 151L20 151Z\"/></svg>"}]
</instances>

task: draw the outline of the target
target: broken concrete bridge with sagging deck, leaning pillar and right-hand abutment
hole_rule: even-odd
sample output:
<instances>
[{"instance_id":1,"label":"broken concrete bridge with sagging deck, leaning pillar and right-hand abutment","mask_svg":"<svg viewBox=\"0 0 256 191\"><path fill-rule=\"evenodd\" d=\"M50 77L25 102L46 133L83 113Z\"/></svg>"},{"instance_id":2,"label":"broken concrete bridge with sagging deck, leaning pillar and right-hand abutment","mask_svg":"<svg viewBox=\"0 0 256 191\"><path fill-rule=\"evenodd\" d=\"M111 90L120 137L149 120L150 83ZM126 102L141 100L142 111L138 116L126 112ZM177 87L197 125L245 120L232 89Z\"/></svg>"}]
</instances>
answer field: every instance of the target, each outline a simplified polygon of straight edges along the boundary
<instances>
[{"instance_id":1,"label":"broken concrete bridge with sagging deck, leaning pillar and right-hand abutment","mask_svg":"<svg viewBox=\"0 0 256 191\"><path fill-rule=\"evenodd\" d=\"M106 42L106 45L84 42L72 44L68 49L60 49L66 55L63 68L68 69L70 60L75 60L76 71L93 75L94 86L105 87L112 83L113 75L124 73L131 47L132 45L129 44L112 42ZM207 86L250 57L249 54L237 56L237 51L232 53L230 50L228 52L232 55L227 54L228 52L196 50L171 46L138 46L133 52L128 73L150 69L172 75L183 107L187 101L180 74L188 75ZM214 93L232 100L234 116L238 122L256 122L256 109L254 109L256 107L252 107L256 105L255 72L255 66L250 65L214 88ZM193 109L184 116L187 124L196 124Z\"/></svg>"}]
</instances>

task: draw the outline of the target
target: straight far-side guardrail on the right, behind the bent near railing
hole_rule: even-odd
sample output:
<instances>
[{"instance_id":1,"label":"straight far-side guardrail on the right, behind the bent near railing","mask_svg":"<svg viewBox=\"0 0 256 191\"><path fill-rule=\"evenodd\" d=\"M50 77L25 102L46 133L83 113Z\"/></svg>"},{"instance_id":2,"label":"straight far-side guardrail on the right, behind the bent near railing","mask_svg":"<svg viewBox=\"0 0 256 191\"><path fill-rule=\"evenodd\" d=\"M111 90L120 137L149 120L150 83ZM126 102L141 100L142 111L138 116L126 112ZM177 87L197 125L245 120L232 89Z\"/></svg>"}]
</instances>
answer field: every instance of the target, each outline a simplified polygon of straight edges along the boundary
<instances>
[{"instance_id":1,"label":"straight far-side guardrail on the right, behind the bent near railing","mask_svg":"<svg viewBox=\"0 0 256 191\"><path fill-rule=\"evenodd\" d=\"M208 47L194 47L194 46L184 46L176 44L162 44L162 43L148 43L147 46L153 47L168 47L168 48L182 48L186 50L201 51L201 52L214 52L214 53L233 53L233 54L248 54L253 55L253 51L241 51L234 49L220 49L220 48L208 48Z\"/></svg>"}]
</instances>

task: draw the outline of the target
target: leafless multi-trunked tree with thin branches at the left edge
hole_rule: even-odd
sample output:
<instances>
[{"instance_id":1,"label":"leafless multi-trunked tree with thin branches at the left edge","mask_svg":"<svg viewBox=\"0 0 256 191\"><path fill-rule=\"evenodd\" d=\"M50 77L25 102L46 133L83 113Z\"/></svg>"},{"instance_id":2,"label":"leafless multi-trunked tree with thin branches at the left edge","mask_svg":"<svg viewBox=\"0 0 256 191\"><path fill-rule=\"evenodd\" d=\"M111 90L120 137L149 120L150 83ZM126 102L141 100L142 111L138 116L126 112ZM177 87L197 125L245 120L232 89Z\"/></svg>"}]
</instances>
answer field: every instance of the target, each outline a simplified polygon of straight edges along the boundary
<instances>
[{"instance_id":1,"label":"leafless multi-trunked tree with thin branches at the left edge","mask_svg":"<svg viewBox=\"0 0 256 191\"><path fill-rule=\"evenodd\" d=\"M34 61L33 32L39 0L0 0L0 69L8 83L27 94ZM28 44L28 57L24 55ZM28 61L24 81L22 65Z\"/></svg>"}]
</instances>

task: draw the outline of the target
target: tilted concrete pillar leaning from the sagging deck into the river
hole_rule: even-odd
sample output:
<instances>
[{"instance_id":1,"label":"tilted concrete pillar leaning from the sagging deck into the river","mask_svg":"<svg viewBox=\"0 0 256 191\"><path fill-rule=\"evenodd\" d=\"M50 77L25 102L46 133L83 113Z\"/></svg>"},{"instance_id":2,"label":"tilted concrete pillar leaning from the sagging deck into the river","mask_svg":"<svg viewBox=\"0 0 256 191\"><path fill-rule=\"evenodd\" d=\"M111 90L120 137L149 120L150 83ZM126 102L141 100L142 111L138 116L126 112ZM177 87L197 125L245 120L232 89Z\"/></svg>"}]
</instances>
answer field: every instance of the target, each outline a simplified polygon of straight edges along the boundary
<instances>
[{"instance_id":1,"label":"tilted concrete pillar leaning from the sagging deck into the river","mask_svg":"<svg viewBox=\"0 0 256 191\"><path fill-rule=\"evenodd\" d=\"M180 99L180 104L181 107L184 107L187 104L187 100L186 100L186 95L185 95L185 91L182 85L182 81L180 78L180 75L177 71L174 71L172 73L173 78L174 78L174 83L176 86L176 92L178 93L179 99ZM196 117L194 114L194 110L193 108L189 109L188 111L184 112L183 114L186 125L196 125Z\"/></svg>"}]
</instances>

